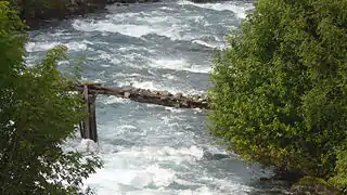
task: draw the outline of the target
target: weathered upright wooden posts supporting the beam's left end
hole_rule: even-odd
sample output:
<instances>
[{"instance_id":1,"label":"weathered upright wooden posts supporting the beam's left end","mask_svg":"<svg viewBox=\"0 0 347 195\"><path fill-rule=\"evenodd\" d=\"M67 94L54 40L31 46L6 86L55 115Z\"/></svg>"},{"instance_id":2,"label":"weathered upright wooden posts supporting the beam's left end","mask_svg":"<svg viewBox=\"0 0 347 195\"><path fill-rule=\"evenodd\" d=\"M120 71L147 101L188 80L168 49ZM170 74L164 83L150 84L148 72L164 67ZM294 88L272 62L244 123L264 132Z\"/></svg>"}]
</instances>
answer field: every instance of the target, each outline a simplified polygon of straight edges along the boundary
<instances>
[{"instance_id":1,"label":"weathered upright wooden posts supporting the beam's left end","mask_svg":"<svg viewBox=\"0 0 347 195\"><path fill-rule=\"evenodd\" d=\"M83 139L90 139L98 142L97 117L95 117L95 100L97 94L88 94L88 86L83 86L83 100L86 103L87 117L79 122L80 134Z\"/></svg>"}]
</instances>

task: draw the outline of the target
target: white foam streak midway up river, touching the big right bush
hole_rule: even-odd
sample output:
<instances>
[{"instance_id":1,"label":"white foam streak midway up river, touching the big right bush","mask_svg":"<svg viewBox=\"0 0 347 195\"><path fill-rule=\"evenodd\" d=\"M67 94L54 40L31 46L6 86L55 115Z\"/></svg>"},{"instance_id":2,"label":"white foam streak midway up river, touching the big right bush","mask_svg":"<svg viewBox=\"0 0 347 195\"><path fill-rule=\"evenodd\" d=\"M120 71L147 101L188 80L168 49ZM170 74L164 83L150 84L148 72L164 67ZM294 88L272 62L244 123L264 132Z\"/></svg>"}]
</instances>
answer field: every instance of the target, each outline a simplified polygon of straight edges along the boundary
<instances>
[{"instance_id":1,"label":"white foam streak midway up river, touching the big right bush","mask_svg":"<svg viewBox=\"0 0 347 195\"><path fill-rule=\"evenodd\" d=\"M151 60L147 65L154 68L185 70L191 73L208 74L210 72L209 66L193 65L187 62L184 58L156 58Z\"/></svg>"}]
</instances>

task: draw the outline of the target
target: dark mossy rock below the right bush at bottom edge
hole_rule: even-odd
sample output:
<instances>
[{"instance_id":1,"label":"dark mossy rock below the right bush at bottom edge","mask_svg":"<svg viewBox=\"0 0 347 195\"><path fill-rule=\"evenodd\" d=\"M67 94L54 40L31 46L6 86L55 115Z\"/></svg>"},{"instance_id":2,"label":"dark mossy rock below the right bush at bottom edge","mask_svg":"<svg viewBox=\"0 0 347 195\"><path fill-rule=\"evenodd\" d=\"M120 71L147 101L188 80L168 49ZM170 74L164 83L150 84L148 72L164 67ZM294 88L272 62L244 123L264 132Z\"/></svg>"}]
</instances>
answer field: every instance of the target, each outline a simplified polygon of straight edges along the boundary
<instances>
[{"instance_id":1,"label":"dark mossy rock below the right bush at bottom edge","mask_svg":"<svg viewBox=\"0 0 347 195\"><path fill-rule=\"evenodd\" d=\"M339 195L340 192L323 179L305 177L291 187L294 195Z\"/></svg>"}]
</instances>

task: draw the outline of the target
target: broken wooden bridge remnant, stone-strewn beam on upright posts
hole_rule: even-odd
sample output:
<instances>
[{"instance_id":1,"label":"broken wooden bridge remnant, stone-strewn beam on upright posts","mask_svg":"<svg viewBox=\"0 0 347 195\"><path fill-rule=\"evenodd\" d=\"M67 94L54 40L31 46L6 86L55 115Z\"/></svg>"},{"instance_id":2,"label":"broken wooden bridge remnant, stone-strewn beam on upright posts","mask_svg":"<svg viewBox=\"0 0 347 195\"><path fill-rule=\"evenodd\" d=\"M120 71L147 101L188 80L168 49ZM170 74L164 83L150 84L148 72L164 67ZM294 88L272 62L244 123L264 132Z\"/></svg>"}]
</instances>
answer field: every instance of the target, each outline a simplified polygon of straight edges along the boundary
<instances>
[{"instance_id":1,"label":"broken wooden bridge remnant, stone-strewn beam on upright posts","mask_svg":"<svg viewBox=\"0 0 347 195\"><path fill-rule=\"evenodd\" d=\"M83 139L98 142L95 100L98 94L113 95L131 101L157 104L177 108L203 108L208 109L207 95L183 95L183 93L172 94L168 91L151 91L133 87L107 88L100 83L76 84L77 90L82 92L86 104L87 117L80 121L80 134Z\"/></svg>"}]
</instances>

